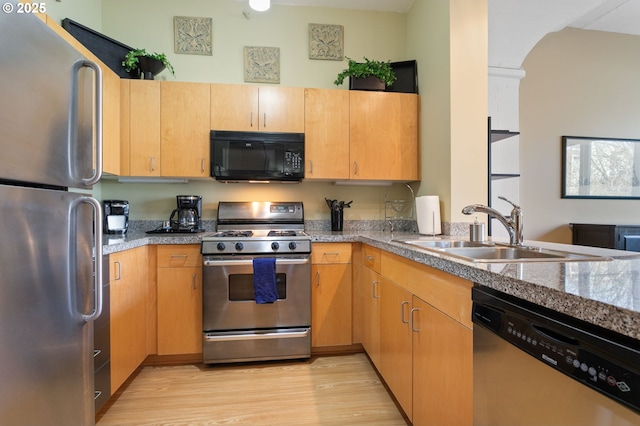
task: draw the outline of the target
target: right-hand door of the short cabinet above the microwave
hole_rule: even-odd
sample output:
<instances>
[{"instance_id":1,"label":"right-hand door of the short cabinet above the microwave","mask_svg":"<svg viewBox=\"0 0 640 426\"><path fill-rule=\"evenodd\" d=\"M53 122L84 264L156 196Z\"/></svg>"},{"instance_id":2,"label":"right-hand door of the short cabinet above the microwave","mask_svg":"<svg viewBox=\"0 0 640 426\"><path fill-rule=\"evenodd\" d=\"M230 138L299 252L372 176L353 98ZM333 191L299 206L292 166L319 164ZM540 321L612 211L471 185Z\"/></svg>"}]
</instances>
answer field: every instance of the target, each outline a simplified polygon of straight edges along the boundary
<instances>
[{"instance_id":1,"label":"right-hand door of the short cabinet above the microwave","mask_svg":"<svg viewBox=\"0 0 640 426\"><path fill-rule=\"evenodd\" d=\"M304 89L262 86L258 91L259 129L304 133Z\"/></svg>"}]
</instances>

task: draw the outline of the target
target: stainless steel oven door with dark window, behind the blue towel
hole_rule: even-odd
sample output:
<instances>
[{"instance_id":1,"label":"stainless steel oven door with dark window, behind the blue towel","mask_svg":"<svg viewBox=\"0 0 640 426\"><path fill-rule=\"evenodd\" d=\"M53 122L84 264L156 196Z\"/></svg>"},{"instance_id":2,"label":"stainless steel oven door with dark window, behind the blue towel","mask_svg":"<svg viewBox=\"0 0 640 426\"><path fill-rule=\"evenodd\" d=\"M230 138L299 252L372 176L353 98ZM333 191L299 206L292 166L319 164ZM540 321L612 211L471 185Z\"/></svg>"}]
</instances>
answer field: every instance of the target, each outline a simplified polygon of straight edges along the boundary
<instances>
[{"instance_id":1,"label":"stainless steel oven door with dark window, behind the blue towel","mask_svg":"<svg viewBox=\"0 0 640 426\"><path fill-rule=\"evenodd\" d=\"M311 259L275 256L278 300L257 304L253 259L203 257L203 331L276 329L311 325Z\"/></svg>"}]
</instances>

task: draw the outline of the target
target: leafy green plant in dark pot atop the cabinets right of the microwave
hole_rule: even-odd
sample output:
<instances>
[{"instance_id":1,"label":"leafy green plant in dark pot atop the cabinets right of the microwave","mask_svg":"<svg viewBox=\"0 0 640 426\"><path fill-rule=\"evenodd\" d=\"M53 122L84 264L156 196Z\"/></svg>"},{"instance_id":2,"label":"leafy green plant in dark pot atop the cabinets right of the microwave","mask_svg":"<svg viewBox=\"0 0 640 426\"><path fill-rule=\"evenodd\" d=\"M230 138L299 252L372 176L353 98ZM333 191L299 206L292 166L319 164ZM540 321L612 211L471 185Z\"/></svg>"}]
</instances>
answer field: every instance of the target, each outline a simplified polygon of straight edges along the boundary
<instances>
[{"instance_id":1,"label":"leafy green plant in dark pot atop the cabinets right of the microwave","mask_svg":"<svg viewBox=\"0 0 640 426\"><path fill-rule=\"evenodd\" d=\"M384 90L396 81L396 75L389 61L382 62L364 57L364 62L356 62L346 57L349 67L344 69L333 83L339 86L345 77L349 77L351 90Z\"/></svg>"}]
</instances>

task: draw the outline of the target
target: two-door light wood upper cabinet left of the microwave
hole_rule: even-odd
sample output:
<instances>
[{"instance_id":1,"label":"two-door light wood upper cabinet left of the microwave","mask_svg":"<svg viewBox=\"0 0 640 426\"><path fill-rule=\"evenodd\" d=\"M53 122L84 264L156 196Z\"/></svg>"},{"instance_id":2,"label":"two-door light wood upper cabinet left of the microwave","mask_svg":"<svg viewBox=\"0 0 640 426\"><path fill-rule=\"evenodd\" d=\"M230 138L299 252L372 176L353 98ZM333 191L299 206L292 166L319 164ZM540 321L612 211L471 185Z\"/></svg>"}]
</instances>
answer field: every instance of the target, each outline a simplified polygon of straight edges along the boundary
<instances>
[{"instance_id":1,"label":"two-door light wood upper cabinet left of the microwave","mask_svg":"<svg viewBox=\"0 0 640 426\"><path fill-rule=\"evenodd\" d=\"M209 176L209 84L121 82L121 174Z\"/></svg>"}]
</instances>

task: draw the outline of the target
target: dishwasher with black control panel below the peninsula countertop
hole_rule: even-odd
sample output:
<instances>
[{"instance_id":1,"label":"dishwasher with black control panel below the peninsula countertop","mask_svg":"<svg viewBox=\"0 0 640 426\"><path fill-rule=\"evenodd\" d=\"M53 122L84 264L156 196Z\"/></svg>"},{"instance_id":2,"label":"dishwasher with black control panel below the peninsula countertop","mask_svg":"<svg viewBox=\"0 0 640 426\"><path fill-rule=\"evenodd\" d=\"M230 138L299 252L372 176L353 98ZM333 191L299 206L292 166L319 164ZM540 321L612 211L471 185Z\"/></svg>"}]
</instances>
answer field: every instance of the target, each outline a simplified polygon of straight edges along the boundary
<instances>
[{"instance_id":1,"label":"dishwasher with black control panel below the peninsula countertop","mask_svg":"<svg viewBox=\"0 0 640 426\"><path fill-rule=\"evenodd\" d=\"M640 341L476 285L474 426L640 425Z\"/></svg>"}]
</instances>

